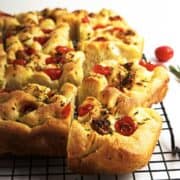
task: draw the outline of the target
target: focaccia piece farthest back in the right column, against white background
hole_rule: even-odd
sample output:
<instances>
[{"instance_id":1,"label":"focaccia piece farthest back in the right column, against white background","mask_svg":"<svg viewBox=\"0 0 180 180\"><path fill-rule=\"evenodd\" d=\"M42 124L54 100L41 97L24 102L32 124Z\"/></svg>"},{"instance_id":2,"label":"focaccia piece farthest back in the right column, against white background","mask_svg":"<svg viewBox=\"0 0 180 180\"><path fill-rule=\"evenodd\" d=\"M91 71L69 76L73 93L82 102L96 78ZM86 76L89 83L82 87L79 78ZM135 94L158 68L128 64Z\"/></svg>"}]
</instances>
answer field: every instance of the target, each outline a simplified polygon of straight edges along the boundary
<instances>
[{"instance_id":1,"label":"focaccia piece farthest back in the right column, against white background","mask_svg":"<svg viewBox=\"0 0 180 180\"><path fill-rule=\"evenodd\" d=\"M103 9L84 15L79 23L79 47L85 52L84 68L107 59L139 61L142 57L143 38L118 14Z\"/></svg>"}]
</instances>

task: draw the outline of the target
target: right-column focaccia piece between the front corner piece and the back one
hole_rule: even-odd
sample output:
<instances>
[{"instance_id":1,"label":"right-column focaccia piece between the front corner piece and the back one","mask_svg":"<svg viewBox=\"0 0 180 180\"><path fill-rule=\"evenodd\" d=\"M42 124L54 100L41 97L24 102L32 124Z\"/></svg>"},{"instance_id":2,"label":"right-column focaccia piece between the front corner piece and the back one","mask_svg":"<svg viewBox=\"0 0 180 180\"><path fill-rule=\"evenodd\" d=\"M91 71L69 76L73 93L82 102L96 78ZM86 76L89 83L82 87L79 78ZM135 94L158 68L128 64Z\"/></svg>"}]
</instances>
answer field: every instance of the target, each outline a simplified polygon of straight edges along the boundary
<instances>
[{"instance_id":1,"label":"right-column focaccia piece between the front corner piece and the back one","mask_svg":"<svg viewBox=\"0 0 180 180\"><path fill-rule=\"evenodd\" d=\"M150 107L162 101L168 81L167 70L162 66L148 70L141 64L103 61L83 79L78 103L94 96L116 113L128 112L136 106Z\"/></svg>"}]
</instances>

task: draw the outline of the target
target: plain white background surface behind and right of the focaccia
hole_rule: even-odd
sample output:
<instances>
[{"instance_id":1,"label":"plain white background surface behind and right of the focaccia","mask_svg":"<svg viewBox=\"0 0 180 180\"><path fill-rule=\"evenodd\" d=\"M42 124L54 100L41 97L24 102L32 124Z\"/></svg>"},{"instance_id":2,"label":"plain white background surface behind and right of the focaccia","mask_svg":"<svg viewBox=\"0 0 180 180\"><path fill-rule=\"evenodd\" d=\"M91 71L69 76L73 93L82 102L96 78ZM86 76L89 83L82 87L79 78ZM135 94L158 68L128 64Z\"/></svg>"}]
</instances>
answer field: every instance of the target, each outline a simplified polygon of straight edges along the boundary
<instances>
[{"instance_id":1,"label":"plain white background surface behind and right of the focaccia","mask_svg":"<svg viewBox=\"0 0 180 180\"><path fill-rule=\"evenodd\" d=\"M154 59L154 49L170 45L174 57L166 63L180 65L180 6L178 0L0 0L0 9L17 13L45 7L66 7L98 11L109 8L124 16L145 39L144 52ZM168 117L174 129L176 144L180 146L180 82L170 74L169 91L164 100Z\"/></svg>"}]
</instances>

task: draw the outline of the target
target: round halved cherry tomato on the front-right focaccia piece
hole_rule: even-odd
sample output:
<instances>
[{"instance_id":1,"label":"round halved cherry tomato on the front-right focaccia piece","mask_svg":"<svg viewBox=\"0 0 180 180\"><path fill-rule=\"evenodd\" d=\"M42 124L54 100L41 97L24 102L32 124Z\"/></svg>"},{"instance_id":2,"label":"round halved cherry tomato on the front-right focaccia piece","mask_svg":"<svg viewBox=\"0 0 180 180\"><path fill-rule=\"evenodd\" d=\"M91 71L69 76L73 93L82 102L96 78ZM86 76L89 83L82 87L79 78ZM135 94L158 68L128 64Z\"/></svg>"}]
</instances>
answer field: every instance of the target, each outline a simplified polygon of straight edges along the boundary
<instances>
[{"instance_id":1,"label":"round halved cherry tomato on the front-right focaccia piece","mask_svg":"<svg viewBox=\"0 0 180 180\"><path fill-rule=\"evenodd\" d=\"M137 129L137 125L129 116L118 119L114 126L116 131L124 136L130 136Z\"/></svg>"}]
</instances>

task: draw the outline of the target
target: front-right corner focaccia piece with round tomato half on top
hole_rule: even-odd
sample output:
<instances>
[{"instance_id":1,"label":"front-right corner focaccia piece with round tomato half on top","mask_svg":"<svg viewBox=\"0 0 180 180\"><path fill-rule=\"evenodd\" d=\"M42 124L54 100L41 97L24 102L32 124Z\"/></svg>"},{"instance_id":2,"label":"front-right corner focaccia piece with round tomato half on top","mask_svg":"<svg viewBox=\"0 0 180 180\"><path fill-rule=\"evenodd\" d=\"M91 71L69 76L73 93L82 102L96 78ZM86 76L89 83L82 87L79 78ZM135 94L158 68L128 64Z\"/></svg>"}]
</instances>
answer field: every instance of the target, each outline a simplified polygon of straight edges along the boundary
<instances>
[{"instance_id":1,"label":"front-right corner focaccia piece with round tomato half on top","mask_svg":"<svg viewBox=\"0 0 180 180\"><path fill-rule=\"evenodd\" d=\"M67 146L68 165L73 171L119 174L148 163L162 126L154 110L136 107L115 116L98 100L87 97L78 114Z\"/></svg>"}]
</instances>

